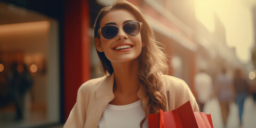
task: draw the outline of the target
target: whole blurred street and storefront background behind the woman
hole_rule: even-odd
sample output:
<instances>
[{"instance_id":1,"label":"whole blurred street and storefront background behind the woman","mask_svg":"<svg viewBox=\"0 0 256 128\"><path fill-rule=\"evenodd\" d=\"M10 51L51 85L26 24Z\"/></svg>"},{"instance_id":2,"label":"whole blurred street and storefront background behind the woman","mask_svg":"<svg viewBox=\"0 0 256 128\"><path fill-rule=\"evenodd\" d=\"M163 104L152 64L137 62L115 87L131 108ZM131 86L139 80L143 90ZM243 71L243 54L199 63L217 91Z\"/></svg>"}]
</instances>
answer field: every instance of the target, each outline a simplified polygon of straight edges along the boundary
<instances>
[{"instance_id":1,"label":"whole blurred street and storefront background behind the woman","mask_svg":"<svg viewBox=\"0 0 256 128\"><path fill-rule=\"evenodd\" d=\"M0 0L0 127L62 127L79 86L100 77L93 23L112 2ZM210 96L201 111L212 115L214 127L256 127L256 0L129 2L164 44L169 75L183 79L198 103L197 75L207 74L210 86L199 89ZM219 97L223 69L234 92L226 117Z\"/></svg>"}]
</instances>

